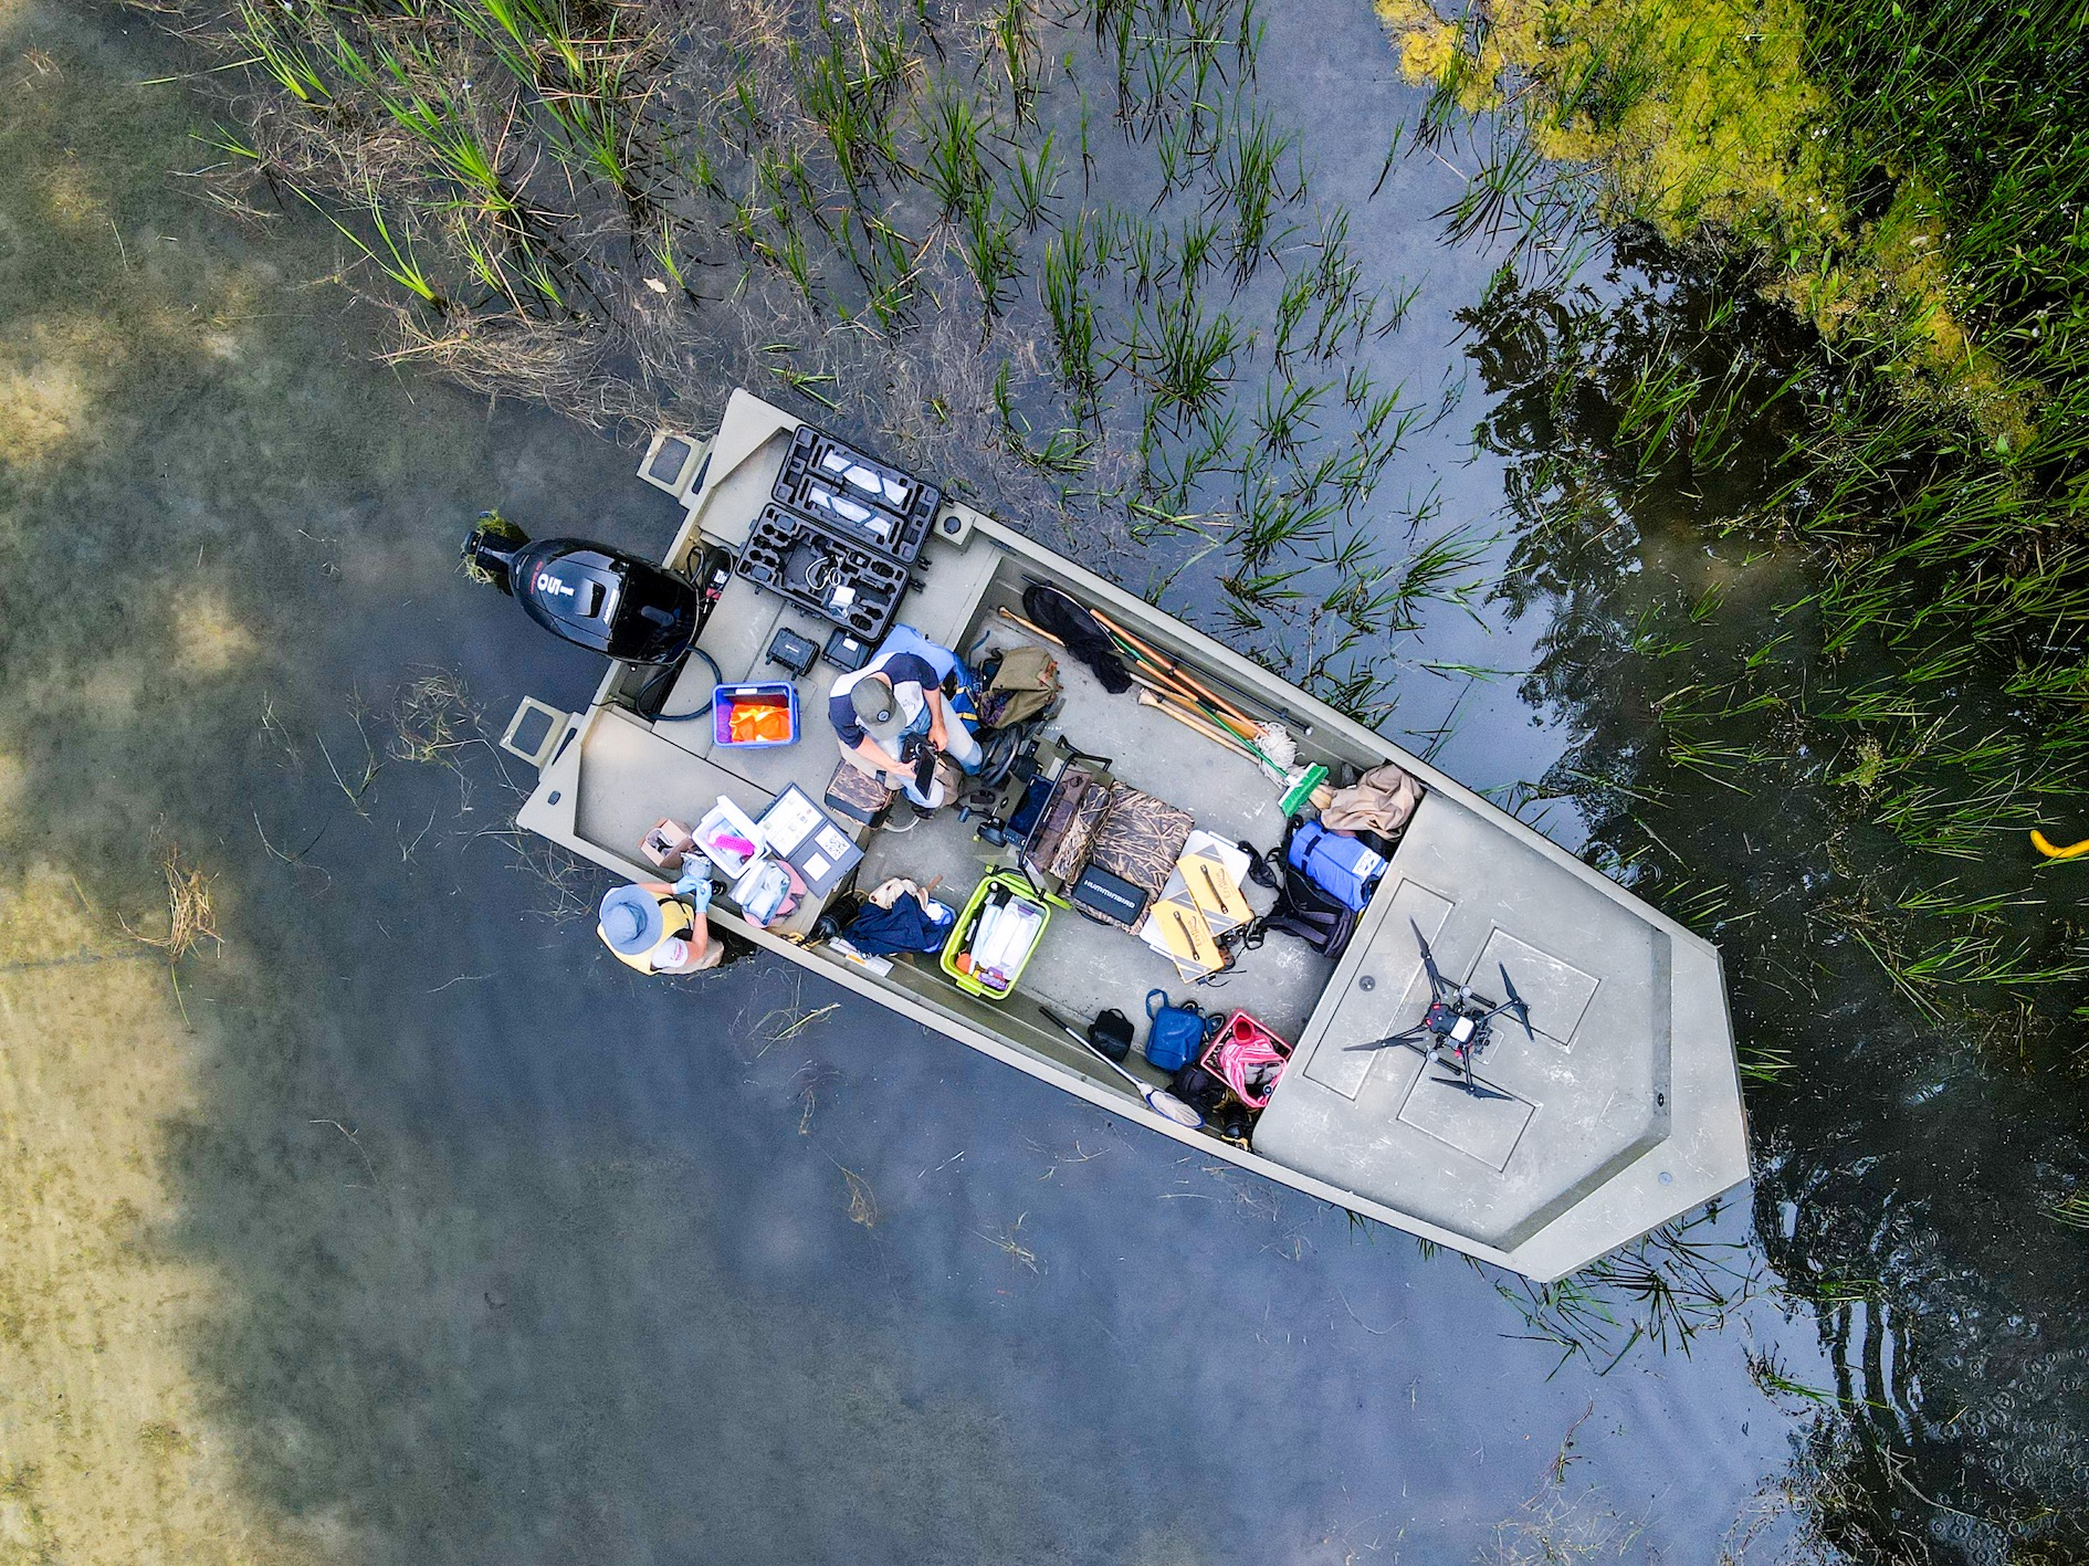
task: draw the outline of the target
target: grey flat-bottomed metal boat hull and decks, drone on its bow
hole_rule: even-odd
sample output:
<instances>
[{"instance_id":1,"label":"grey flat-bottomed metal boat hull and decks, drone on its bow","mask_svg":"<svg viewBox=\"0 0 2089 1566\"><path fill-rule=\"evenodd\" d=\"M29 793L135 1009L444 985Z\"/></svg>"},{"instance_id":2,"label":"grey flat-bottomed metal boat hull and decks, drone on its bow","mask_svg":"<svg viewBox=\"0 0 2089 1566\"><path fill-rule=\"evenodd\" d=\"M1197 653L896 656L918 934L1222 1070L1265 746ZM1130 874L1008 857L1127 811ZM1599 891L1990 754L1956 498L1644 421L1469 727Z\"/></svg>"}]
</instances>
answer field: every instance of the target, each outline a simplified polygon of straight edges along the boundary
<instances>
[{"instance_id":1,"label":"grey flat-bottomed metal boat hull and decks, drone on its bow","mask_svg":"<svg viewBox=\"0 0 2089 1566\"><path fill-rule=\"evenodd\" d=\"M731 800L758 818L798 785L827 796L840 752L827 725L836 668L777 668L771 645L796 631L815 645L834 624L748 574L750 535L788 480L800 420L735 393L717 434L660 434L639 476L681 507L660 560L696 572L731 551L742 568L717 597L700 649L727 683L794 681L802 733L788 745L723 745L710 722L648 720L654 670L612 662L593 697L562 708L524 697L501 743L537 768L518 823L618 877L654 879L639 841L662 816L691 821ZM800 449L804 438L798 441ZM773 520L773 518L771 518ZM706 555L708 551L708 555ZM1032 580L1180 660L1210 689L1278 720L1297 760L1354 777L1395 762L1425 785L1389 867L1337 958L1270 933L1224 983L1191 990L1166 950L1124 927L1055 910L1019 983L1001 996L963 986L936 956L863 965L815 938L827 898L756 929L729 902L712 919L836 986L1197 1150L1538 1280L1560 1278L1748 1178L1748 1138L1719 952L1429 762L1343 718L980 512L936 497L919 557L894 578L896 616L930 641L978 658L1034 641L1013 616ZM1274 848L1281 783L1235 748L1109 695L1061 654L1063 695L1047 733L1107 770L1111 787L1174 806L1172 818L1226 844ZM708 699L712 674L689 658L652 710ZM865 858L854 885L905 875L953 906L1007 873L996 846L944 808L905 833L842 821ZM831 894L829 894L831 896ZM1270 894L1247 887L1268 906ZM1258 908L1258 910L1260 910ZM1429 960L1433 956L1433 963ZM884 971L877 971L884 967ZM1385 1044L1416 1029L1441 983L1494 1000L1492 1042L1456 1061ZM1247 1144L1151 1109L1111 1067L1055 1025L1116 1006L1143 1021L1151 990L1245 1011L1293 1050ZM1504 994L1506 992L1506 994ZM1126 1063L1166 1086L1139 1052Z\"/></svg>"}]
</instances>

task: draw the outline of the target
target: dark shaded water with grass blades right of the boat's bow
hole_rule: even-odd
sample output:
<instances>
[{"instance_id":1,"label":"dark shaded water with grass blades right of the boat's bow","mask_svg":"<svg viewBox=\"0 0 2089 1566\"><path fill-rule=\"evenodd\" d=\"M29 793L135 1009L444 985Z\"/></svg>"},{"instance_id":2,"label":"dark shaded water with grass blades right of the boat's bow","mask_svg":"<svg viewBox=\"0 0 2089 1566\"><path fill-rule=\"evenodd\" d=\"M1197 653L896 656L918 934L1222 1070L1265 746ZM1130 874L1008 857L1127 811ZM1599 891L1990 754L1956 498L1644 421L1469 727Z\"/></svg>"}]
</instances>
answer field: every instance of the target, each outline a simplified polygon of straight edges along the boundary
<instances>
[{"instance_id":1,"label":"dark shaded water with grass blades right of the boat's bow","mask_svg":"<svg viewBox=\"0 0 2089 1566\"><path fill-rule=\"evenodd\" d=\"M2089 950L2018 833L2083 798L2062 695L2079 626L2010 618L2012 568L1982 553L2008 514L1895 543L1863 512L1891 441L1807 512L1822 493L1788 484L1820 476L1803 447L1840 395L1807 338L1700 259L1632 236L1619 259L1609 301L1504 282L1475 315L1500 395L1483 441L1517 464L1504 591L1550 616L1527 691L1577 733L1540 791L1581 804L1586 852L1726 952L1759 1234L1836 1374L1820 1468L1792 1485L1809 1537L1865 1553L1920 1505L2068 1543L2079 1472L2026 1453L2079 1437L2079 1301L2031 1274L2072 1267L2049 1201L2056 1167L2081 1171ZM1650 461L1621 409L1642 399L1644 436L1684 380ZM1690 422L1732 384L1755 388L1719 432L1732 455L1698 472ZM1579 1295L1548 1303L1563 1340L1613 1330ZM2018 1324L2064 1347L2020 1366Z\"/></svg>"}]
</instances>

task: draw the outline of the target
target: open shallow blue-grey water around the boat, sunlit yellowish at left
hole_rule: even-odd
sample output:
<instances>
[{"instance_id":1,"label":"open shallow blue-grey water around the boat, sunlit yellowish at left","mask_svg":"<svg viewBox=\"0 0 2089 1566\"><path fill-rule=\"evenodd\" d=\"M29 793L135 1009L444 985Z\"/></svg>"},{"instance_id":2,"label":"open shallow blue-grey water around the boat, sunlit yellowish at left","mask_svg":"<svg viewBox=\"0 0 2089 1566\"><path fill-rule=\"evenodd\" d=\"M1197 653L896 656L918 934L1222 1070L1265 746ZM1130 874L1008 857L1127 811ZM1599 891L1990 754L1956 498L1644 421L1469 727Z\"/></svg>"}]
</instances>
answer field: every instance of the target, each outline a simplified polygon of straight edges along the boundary
<instances>
[{"instance_id":1,"label":"open shallow blue-grey water around the boat, sunlit yellowish at left","mask_svg":"<svg viewBox=\"0 0 2089 1566\"><path fill-rule=\"evenodd\" d=\"M1285 92L1398 117L1368 13L1293 25L1293 56L1331 63ZM2001 1495L2089 1493L2081 1347L2047 1347L2081 1244L1968 1196L2018 1186L2022 1125L2056 1146L2074 1107L1916 1054L1876 992L1824 1002L1880 1019L1859 1069L1751 1098L1761 1238L1746 1201L1707 1230L1742 1272L1876 1284L1824 1313L1828 1347L1763 1297L1602 1376L1492 1276L792 969L635 983L570 919L600 877L524 860L522 779L476 739L595 668L451 562L485 505L650 549L666 501L556 418L370 365L322 282L330 232L247 234L165 173L211 157L207 121L138 86L182 69L140 23L17 4L0 61L13 1553L1713 1560L1767 1514L1761 1558L1805 1531L1780 1493L1820 1409L1759 1391L1751 1349L1813 1389L1840 1359L1859 1418L1905 1422L1880 1439L1930 1468L2008 1451ZM1381 157L1349 138L1337 175L1368 190ZM1418 370L1462 361L1450 311L1485 271L1416 221L1435 177L1404 167L1358 217L1431 271L1398 340ZM1466 464L1458 430L1487 395L1414 461L1492 516L1504 464ZM1703 568L1652 535L1629 589ZM1736 597L1774 570L1734 570ZM1454 620L1431 656L1571 662L1544 610L1441 641ZM395 754L437 674L483 722ZM1414 685L1395 727L1441 722L1456 685ZM1606 720L1600 689L1546 681L1462 712L1437 760L1483 787ZM1546 827L1579 841L1573 804ZM1700 814L1740 825L1709 789ZM1732 875L1769 904L1809 818L1771 839L1763 814ZM224 933L178 986L125 933L165 927L169 846ZM1767 1015L1767 938L1730 940L1744 1023L1805 1034ZM1934 1495L1930 1468L1907 1482ZM1993 1531L1937 1533L2001 1558Z\"/></svg>"}]
</instances>

